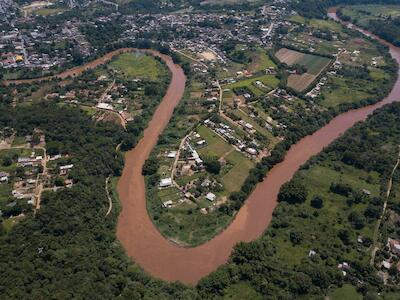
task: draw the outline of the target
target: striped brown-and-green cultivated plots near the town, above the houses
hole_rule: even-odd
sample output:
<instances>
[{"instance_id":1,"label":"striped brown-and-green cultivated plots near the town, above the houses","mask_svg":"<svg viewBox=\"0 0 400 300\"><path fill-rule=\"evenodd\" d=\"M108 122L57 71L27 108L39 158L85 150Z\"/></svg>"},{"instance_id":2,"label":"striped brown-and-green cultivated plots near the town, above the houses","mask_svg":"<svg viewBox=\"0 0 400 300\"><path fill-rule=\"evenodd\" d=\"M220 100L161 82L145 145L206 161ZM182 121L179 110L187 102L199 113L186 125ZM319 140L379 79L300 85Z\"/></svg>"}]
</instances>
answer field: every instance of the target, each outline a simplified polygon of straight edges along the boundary
<instances>
[{"instance_id":1,"label":"striped brown-and-green cultivated plots near the town, above the houses","mask_svg":"<svg viewBox=\"0 0 400 300\"><path fill-rule=\"evenodd\" d=\"M305 54L287 48L280 49L275 56L280 62L289 66L297 64L307 69L307 72L302 75L292 74L288 78L288 86L300 92L308 88L331 62L331 59L326 57Z\"/></svg>"}]
</instances>

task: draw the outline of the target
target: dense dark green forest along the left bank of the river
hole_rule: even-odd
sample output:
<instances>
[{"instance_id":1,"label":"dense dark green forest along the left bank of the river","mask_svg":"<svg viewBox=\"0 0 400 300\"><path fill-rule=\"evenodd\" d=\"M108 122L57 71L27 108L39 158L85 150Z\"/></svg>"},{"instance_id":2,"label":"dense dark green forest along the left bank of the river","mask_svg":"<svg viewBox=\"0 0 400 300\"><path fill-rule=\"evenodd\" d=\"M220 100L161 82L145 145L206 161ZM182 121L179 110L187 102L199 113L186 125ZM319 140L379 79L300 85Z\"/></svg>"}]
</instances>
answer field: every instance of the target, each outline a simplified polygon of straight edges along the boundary
<instances>
[{"instance_id":1,"label":"dense dark green forest along the left bank of the river","mask_svg":"<svg viewBox=\"0 0 400 300\"><path fill-rule=\"evenodd\" d=\"M77 108L50 104L1 108L0 127L21 135L40 128L54 153L72 157L70 175L76 182L71 189L44 194L35 216L9 233L1 230L1 299L140 299L144 294L172 299L184 292L133 265L115 238L119 211L105 218L105 178L119 175L123 165L115 150L123 135L119 127L95 123Z\"/></svg>"}]
</instances>

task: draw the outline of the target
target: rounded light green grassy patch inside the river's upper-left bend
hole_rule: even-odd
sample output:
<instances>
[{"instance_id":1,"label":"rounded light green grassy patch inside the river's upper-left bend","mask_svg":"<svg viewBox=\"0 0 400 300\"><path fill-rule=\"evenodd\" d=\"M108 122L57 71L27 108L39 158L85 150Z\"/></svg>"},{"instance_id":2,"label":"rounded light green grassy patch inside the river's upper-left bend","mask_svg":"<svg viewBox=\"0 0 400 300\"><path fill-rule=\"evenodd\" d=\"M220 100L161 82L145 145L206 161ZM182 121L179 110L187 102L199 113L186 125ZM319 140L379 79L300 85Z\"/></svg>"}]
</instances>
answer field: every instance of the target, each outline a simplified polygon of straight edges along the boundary
<instances>
[{"instance_id":1,"label":"rounded light green grassy patch inside the river's upper-left bend","mask_svg":"<svg viewBox=\"0 0 400 300\"><path fill-rule=\"evenodd\" d=\"M154 57L138 52L119 55L110 67L127 79L157 80L161 75L161 64Z\"/></svg>"}]
</instances>

